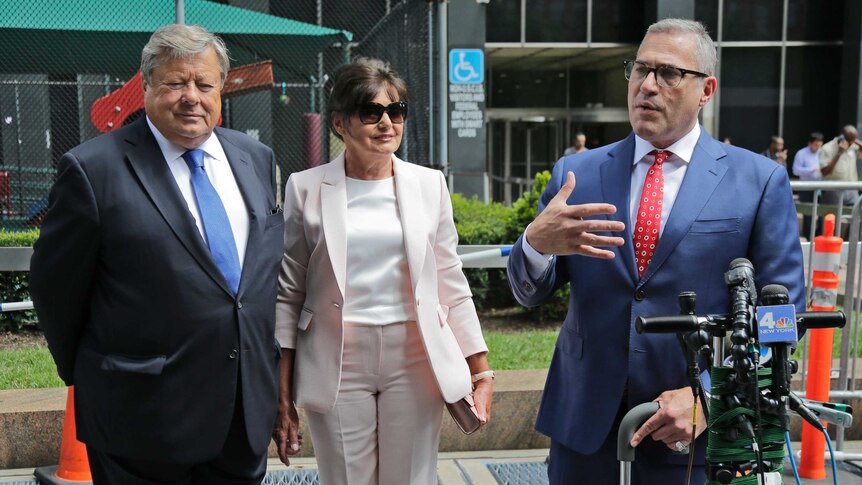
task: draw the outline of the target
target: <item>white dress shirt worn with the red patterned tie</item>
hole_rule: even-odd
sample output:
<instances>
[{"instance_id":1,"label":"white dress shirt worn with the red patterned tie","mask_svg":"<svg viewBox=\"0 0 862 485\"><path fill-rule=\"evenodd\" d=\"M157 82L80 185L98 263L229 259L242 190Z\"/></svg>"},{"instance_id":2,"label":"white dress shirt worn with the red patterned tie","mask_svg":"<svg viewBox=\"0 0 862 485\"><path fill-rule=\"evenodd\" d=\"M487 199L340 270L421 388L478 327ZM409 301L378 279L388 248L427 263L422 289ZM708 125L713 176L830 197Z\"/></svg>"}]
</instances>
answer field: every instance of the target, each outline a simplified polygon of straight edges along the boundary
<instances>
[{"instance_id":1,"label":"white dress shirt worn with the red patterned tie","mask_svg":"<svg viewBox=\"0 0 862 485\"><path fill-rule=\"evenodd\" d=\"M664 176L664 195L662 197L661 210L661 226L659 226L659 236L664 232L667 218L670 216L673 204L676 202L676 196L679 194L679 188L682 186L682 180L685 178L685 172L688 170L688 164L691 162L691 157L694 154L694 148L697 145L697 139L700 138L700 125L695 124L682 138L674 142L666 151L672 153L662 164L662 173ZM650 166L655 161L655 157L649 153L656 150L652 143L635 135L635 153L632 158L632 178L629 191L629 234L634 230L637 222L638 205L643 192L644 180L646 180L647 172ZM578 190L575 188L575 190ZM596 201L600 202L600 201ZM529 229L529 226L527 226ZM661 244L661 239L659 239ZM527 238L524 238L522 243L524 248L524 256L526 256L527 272L530 277L539 279L542 274L548 269L554 261L554 256L547 256L536 251Z\"/></svg>"}]
</instances>

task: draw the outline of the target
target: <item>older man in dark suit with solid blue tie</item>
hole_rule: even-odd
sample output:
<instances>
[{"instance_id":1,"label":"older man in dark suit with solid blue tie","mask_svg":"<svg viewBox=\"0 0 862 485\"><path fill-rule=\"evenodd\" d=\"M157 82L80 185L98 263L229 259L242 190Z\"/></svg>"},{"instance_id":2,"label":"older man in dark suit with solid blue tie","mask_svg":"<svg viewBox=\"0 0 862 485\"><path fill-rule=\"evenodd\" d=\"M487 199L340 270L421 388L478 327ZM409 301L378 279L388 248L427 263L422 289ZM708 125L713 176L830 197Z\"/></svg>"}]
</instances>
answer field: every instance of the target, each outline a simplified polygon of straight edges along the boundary
<instances>
[{"instance_id":1,"label":"older man in dark suit with solid blue tie","mask_svg":"<svg viewBox=\"0 0 862 485\"><path fill-rule=\"evenodd\" d=\"M30 284L96 484L260 483L276 412L272 151L216 128L221 39L143 49L146 117L58 166Z\"/></svg>"}]
</instances>

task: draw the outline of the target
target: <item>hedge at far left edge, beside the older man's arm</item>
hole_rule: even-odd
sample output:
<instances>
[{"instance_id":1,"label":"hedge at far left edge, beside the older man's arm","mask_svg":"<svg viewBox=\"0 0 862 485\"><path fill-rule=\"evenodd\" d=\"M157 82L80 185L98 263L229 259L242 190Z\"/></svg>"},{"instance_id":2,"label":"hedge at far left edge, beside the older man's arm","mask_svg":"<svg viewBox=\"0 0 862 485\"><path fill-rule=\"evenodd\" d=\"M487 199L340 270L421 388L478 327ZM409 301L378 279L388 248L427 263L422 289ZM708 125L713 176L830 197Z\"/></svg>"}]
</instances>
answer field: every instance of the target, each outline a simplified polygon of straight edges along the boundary
<instances>
[{"instance_id":1,"label":"hedge at far left edge, beside the older man's arm","mask_svg":"<svg viewBox=\"0 0 862 485\"><path fill-rule=\"evenodd\" d=\"M32 247L39 237L38 229L26 231L0 231L0 247ZM0 272L0 302L9 303L30 299L27 271ZM0 331L17 332L25 327L38 328L36 313L32 310L0 313Z\"/></svg>"}]
</instances>

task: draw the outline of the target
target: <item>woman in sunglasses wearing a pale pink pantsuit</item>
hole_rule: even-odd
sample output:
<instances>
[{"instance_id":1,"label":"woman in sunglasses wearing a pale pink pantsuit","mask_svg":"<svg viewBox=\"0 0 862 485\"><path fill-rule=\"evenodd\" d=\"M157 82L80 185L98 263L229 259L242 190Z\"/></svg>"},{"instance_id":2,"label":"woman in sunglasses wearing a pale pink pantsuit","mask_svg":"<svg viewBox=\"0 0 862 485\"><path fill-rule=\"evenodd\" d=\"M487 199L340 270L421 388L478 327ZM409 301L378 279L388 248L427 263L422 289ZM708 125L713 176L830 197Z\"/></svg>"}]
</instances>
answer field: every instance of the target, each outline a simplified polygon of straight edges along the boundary
<instances>
[{"instance_id":1,"label":"woman in sunglasses wearing a pale pink pantsuit","mask_svg":"<svg viewBox=\"0 0 862 485\"><path fill-rule=\"evenodd\" d=\"M287 463L304 408L323 485L436 484L444 401L475 384L490 417L493 372L445 179L394 155L406 99L384 62L342 67L329 116L345 151L285 187L273 438Z\"/></svg>"}]
</instances>

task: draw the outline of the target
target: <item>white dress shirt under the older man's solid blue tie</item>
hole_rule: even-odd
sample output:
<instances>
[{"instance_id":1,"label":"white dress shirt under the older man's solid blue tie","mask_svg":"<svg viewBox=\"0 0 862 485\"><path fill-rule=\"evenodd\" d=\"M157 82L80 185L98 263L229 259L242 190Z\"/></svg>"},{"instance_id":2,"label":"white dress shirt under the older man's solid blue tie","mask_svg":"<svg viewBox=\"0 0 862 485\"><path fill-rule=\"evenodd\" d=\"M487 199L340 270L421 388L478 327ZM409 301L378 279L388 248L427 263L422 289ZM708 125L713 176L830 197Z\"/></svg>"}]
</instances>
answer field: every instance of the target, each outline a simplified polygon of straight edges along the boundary
<instances>
[{"instance_id":1,"label":"white dress shirt under the older man's solid blue tie","mask_svg":"<svg viewBox=\"0 0 862 485\"><path fill-rule=\"evenodd\" d=\"M186 161L183 160L183 153L188 150L168 141L153 125L149 117L147 117L147 124L150 125L150 131L156 137L156 142L162 150L162 155L164 155L165 160L168 162L168 168L171 169L174 180L177 181L177 187L179 187L180 193L183 194L183 198L189 206L189 211L195 218L195 224L198 226L201 237L206 242L207 238L204 232L203 221L201 221L201 214L198 210L198 201L192 189L192 174ZM243 261L245 261L245 248L248 244L249 229L248 210L245 207L245 200L242 198L239 186L237 186L233 171L230 168L230 163L227 161L227 155L225 155L218 137L215 134L211 134L198 148L204 151L204 171L207 173L210 183L215 187L227 212L227 218L230 221L230 228L233 232L233 239L236 242L239 266L242 269Z\"/></svg>"}]
</instances>

